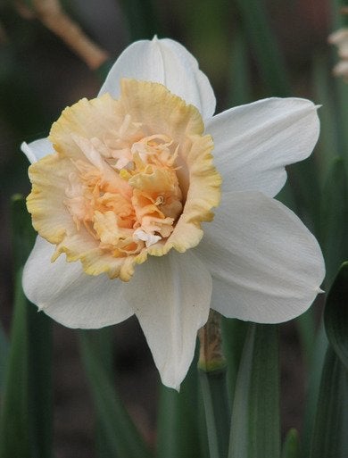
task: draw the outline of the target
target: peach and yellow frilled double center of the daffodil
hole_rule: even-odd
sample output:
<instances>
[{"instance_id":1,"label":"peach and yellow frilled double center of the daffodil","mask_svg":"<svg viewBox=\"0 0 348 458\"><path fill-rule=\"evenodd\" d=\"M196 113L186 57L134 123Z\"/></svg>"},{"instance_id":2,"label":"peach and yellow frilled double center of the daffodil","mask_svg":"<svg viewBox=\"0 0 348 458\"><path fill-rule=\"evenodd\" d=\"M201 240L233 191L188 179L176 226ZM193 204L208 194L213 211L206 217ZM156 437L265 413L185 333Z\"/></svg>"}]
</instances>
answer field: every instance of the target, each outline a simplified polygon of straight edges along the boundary
<instances>
[{"instance_id":1,"label":"peach and yellow frilled double center of the daffodil","mask_svg":"<svg viewBox=\"0 0 348 458\"><path fill-rule=\"evenodd\" d=\"M66 108L51 129L55 154L29 168L28 208L53 261L128 280L147 255L196 246L220 201L203 121L158 83L123 79L108 94Z\"/></svg>"}]
</instances>

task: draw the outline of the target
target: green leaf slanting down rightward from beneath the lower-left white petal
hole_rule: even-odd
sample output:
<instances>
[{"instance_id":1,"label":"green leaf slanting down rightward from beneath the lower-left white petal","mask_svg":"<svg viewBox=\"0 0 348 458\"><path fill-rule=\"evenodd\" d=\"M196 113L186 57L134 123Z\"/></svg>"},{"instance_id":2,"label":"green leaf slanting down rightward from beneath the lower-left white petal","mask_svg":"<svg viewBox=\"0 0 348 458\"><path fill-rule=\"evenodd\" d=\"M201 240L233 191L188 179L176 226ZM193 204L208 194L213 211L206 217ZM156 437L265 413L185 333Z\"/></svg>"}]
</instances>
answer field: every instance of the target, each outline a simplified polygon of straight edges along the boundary
<instances>
[{"instance_id":1,"label":"green leaf slanting down rightward from beneath the lower-left white petal","mask_svg":"<svg viewBox=\"0 0 348 458\"><path fill-rule=\"evenodd\" d=\"M152 456L121 403L89 331L79 331L79 346L100 428L113 458Z\"/></svg>"}]
</instances>

